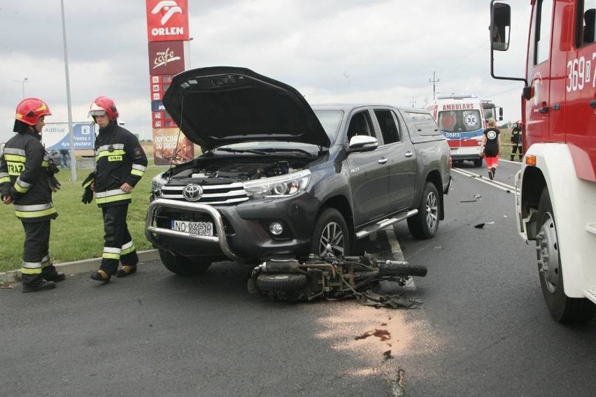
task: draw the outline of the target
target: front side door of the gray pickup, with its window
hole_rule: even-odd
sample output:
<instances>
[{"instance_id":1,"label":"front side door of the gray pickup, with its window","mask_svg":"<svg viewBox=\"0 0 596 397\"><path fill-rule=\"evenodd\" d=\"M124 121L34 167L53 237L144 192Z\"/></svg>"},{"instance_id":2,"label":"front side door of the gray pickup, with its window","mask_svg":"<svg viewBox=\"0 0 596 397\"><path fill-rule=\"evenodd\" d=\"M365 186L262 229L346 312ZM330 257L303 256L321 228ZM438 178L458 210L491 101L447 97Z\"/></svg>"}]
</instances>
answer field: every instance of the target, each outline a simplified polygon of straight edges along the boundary
<instances>
[{"instance_id":1,"label":"front side door of the gray pickup, with its window","mask_svg":"<svg viewBox=\"0 0 596 397\"><path fill-rule=\"evenodd\" d=\"M377 136L369 110L354 113L350 118L346 139L355 135ZM360 226L384 216L389 210L389 159L387 147L348 153L350 190L354 208L354 224Z\"/></svg>"}]
</instances>

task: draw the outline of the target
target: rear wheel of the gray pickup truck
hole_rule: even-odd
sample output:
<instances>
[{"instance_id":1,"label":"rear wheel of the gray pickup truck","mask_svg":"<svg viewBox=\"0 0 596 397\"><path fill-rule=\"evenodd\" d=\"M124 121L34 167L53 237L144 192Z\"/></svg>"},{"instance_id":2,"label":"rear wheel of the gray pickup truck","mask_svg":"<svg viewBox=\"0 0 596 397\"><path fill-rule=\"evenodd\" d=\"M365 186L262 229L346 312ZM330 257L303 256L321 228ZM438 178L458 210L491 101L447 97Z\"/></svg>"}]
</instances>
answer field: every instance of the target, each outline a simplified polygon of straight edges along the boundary
<instances>
[{"instance_id":1,"label":"rear wheel of the gray pickup truck","mask_svg":"<svg viewBox=\"0 0 596 397\"><path fill-rule=\"evenodd\" d=\"M426 182L418 214L408 218L408 229L415 238L432 238L439 229L439 192L431 182Z\"/></svg>"}]
</instances>

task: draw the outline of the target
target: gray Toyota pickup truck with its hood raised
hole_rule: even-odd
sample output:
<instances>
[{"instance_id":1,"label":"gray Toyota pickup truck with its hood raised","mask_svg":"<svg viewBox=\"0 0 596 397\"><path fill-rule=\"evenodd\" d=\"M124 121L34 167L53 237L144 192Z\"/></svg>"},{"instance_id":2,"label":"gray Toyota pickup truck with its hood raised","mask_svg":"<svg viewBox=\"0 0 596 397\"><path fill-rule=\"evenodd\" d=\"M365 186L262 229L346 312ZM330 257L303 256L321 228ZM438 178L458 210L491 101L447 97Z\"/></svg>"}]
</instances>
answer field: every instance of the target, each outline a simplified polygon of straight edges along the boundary
<instances>
[{"instance_id":1,"label":"gray Toyota pickup truck with its hood raised","mask_svg":"<svg viewBox=\"0 0 596 397\"><path fill-rule=\"evenodd\" d=\"M449 147L430 113L310 106L246 68L176 75L164 106L203 153L152 180L146 236L169 270L304 258L407 220L432 238L444 218Z\"/></svg>"}]
</instances>

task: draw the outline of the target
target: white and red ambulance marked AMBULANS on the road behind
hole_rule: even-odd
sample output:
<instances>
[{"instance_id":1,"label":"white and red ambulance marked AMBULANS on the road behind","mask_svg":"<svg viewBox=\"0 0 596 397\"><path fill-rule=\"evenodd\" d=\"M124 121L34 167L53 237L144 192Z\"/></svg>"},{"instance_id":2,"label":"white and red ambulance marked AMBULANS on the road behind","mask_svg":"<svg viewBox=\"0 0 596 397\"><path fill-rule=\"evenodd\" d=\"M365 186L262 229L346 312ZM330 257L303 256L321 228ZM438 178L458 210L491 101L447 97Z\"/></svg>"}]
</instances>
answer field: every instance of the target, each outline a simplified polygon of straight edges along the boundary
<instances>
[{"instance_id":1,"label":"white and red ambulance marked AMBULANS on the road behind","mask_svg":"<svg viewBox=\"0 0 596 397\"><path fill-rule=\"evenodd\" d=\"M482 166L482 133L486 127L482 101L475 95L439 96L426 107L437 120L447 138L451 159L457 164L464 160Z\"/></svg>"}]
</instances>

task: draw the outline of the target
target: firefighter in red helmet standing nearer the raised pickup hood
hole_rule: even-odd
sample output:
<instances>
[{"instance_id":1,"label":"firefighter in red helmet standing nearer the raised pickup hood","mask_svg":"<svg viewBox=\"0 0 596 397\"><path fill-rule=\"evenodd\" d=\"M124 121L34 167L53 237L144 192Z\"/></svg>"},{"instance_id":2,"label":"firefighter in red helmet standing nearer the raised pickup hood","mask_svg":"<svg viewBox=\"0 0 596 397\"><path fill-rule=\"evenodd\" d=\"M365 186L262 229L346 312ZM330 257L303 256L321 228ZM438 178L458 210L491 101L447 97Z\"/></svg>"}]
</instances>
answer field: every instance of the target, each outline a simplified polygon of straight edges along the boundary
<instances>
[{"instance_id":1,"label":"firefighter in red helmet standing nearer the raised pickup hood","mask_svg":"<svg viewBox=\"0 0 596 397\"><path fill-rule=\"evenodd\" d=\"M136 136L118 125L118 110L112 99L98 96L89 115L99 126L99 134L95 140L95 171L87 185L94 191L104 217L104 253L99 270L91 278L108 282L113 275L126 277L136 272L139 257L126 217L132 189L145 173L147 157Z\"/></svg>"}]
</instances>

